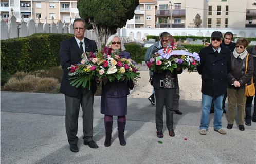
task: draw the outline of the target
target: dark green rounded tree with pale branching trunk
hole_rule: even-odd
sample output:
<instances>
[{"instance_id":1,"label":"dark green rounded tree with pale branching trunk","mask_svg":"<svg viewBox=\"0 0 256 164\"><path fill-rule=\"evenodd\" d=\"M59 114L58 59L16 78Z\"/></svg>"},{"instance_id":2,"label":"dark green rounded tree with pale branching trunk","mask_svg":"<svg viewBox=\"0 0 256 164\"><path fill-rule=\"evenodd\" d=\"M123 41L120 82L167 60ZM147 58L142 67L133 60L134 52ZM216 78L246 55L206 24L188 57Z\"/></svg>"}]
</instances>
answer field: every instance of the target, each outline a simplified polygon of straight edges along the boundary
<instances>
[{"instance_id":1,"label":"dark green rounded tree with pale branching trunk","mask_svg":"<svg viewBox=\"0 0 256 164\"><path fill-rule=\"evenodd\" d=\"M87 29L94 29L98 45L125 26L134 16L139 0L78 0L79 15L86 22Z\"/></svg>"}]
</instances>

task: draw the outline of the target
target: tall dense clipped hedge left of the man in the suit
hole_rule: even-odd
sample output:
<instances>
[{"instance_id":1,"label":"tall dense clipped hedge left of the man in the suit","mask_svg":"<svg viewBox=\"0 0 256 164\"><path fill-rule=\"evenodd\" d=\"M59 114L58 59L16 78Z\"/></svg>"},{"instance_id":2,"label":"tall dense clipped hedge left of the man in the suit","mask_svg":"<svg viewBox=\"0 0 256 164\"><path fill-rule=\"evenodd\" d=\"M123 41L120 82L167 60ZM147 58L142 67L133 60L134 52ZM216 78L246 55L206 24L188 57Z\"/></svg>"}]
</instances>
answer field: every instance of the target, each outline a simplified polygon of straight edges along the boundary
<instances>
[{"instance_id":1,"label":"tall dense clipped hedge left of the man in the suit","mask_svg":"<svg viewBox=\"0 0 256 164\"><path fill-rule=\"evenodd\" d=\"M28 37L1 40L1 69L14 74L59 66L62 40L72 34L37 33Z\"/></svg>"}]
</instances>

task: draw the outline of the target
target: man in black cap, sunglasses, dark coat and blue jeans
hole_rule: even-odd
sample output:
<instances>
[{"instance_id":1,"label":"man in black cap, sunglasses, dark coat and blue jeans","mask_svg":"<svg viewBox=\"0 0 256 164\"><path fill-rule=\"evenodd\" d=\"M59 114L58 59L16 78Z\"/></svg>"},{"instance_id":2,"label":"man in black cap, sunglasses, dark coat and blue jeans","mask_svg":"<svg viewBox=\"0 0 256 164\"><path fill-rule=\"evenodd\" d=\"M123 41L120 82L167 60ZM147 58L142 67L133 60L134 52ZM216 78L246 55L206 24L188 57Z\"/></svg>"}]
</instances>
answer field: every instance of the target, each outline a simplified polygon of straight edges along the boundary
<instances>
[{"instance_id":1,"label":"man in black cap, sunglasses, dark coat and blue jeans","mask_svg":"<svg viewBox=\"0 0 256 164\"><path fill-rule=\"evenodd\" d=\"M227 75L230 71L230 51L221 48L222 33L214 31L211 35L211 45L199 52L200 65L197 71L202 75L202 116L199 133L206 135L209 113L214 99L214 131L227 134L222 128L222 100L227 89Z\"/></svg>"}]
</instances>

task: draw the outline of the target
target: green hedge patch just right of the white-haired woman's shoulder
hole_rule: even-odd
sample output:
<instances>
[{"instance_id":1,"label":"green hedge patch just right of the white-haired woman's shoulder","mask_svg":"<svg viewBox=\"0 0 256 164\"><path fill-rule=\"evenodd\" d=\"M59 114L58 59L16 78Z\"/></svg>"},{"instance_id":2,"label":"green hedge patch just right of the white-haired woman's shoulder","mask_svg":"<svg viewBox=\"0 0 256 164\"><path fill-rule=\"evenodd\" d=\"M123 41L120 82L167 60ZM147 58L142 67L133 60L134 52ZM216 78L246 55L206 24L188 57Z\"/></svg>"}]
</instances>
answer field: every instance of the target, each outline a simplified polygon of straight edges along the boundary
<instances>
[{"instance_id":1,"label":"green hedge patch just right of the white-haired woman's shoulder","mask_svg":"<svg viewBox=\"0 0 256 164\"><path fill-rule=\"evenodd\" d=\"M131 58L136 61L136 63L141 63L144 61L144 56L148 48L142 47L137 43L126 43L124 45L125 51L129 52Z\"/></svg>"}]
</instances>

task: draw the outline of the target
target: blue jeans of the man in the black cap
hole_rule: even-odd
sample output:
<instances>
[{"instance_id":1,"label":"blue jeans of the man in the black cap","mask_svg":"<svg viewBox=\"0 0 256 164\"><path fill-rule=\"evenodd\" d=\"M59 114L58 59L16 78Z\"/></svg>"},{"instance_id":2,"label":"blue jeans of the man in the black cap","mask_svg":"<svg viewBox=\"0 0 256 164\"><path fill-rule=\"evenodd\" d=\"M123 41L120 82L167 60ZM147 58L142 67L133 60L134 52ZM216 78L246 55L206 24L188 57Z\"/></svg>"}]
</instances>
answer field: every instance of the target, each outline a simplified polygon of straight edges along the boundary
<instances>
[{"instance_id":1,"label":"blue jeans of the man in the black cap","mask_svg":"<svg viewBox=\"0 0 256 164\"><path fill-rule=\"evenodd\" d=\"M206 94L202 94L202 115L201 115L201 124L200 129L208 130L209 124L209 114L210 114L210 107L212 99L214 99L214 120L213 120L213 127L214 129L221 129L222 128L222 100L223 95L218 96L209 96Z\"/></svg>"}]
</instances>

